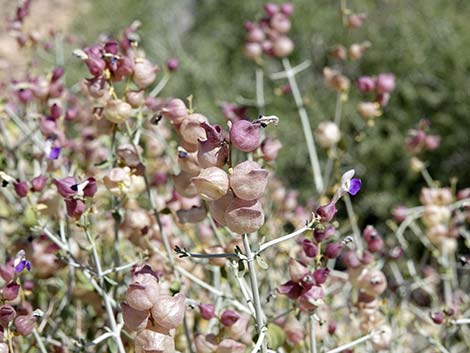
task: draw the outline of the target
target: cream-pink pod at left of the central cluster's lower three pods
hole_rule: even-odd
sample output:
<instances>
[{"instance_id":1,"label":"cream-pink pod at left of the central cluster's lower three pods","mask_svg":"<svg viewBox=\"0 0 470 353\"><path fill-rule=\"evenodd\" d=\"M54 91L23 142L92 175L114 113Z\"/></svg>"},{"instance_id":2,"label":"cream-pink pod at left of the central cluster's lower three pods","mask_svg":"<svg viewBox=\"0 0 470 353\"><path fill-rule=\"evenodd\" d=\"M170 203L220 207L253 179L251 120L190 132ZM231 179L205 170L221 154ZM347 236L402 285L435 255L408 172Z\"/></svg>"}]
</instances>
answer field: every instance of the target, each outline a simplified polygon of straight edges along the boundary
<instances>
[{"instance_id":1,"label":"cream-pink pod at left of the central cluster's lower three pods","mask_svg":"<svg viewBox=\"0 0 470 353\"><path fill-rule=\"evenodd\" d=\"M218 200L228 191L228 175L218 167L203 169L198 176L191 180L201 197L208 201Z\"/></svg>"}]
</instances>

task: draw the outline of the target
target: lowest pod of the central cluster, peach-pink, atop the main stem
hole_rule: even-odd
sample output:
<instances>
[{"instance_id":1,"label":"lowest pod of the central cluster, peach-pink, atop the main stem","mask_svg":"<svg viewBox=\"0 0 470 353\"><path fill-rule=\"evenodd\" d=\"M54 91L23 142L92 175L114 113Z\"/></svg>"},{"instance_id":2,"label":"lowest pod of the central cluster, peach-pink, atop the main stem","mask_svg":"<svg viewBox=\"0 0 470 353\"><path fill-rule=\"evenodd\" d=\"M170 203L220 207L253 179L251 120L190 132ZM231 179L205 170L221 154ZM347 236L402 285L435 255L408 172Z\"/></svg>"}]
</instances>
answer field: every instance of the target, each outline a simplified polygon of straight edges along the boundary
<instances>
[{"instance_id":1,"label":"lowest pod of the central cluster, peach-pink, atop the main stem","mask_svg":"<svg viewBox=\"0 0 470 353\"><path fill-rule=\"evenodd\" d=\"M225 223L235 233L253 233L264 224L264 212L257 200L234 198L225 211Z\"/></svg>"}]
</instances>

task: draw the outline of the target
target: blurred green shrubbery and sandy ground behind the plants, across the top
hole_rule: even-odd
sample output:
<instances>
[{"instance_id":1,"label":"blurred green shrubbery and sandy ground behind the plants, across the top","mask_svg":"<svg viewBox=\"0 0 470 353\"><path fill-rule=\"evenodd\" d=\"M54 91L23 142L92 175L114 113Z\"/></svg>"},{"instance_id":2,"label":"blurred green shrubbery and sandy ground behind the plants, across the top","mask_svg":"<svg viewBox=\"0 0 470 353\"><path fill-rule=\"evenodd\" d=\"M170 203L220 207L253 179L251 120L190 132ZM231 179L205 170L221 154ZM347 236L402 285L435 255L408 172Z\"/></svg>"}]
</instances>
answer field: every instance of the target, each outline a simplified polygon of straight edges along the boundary
<instances>
[{"instance_id":1,"label":"blurred green shrubbery and sandy ground behind the plants, across the top","mask_svg":"<svg viewBox=\"0 0 470 353\"><path fill-rule=\"evenodd\" d=\"M339 0L296 0L290 36L296 49L290 60L312 61L299 76L301 90L313 126L333 119L336 94L323 83L322 70L340 68L351 80L381 72L395 74L397 88L375 126L355 112L363 98L354 88L343 111L344 140L349 153L345 166L354 167L364 180L366 192L355 201L361 223L385 220L392 206L416 204L424 185L420 175L409 170L404 139L419 119L431 122L431 132L442 136L441 147L427 157L431 176L448 185L457 178L470 183L470 1L468 0L355 0L347 5L368 14L366 24L347 32L340 23ZM232 0L33 0L28 25L46 24L74 34L64 46L64 59L76 63L67 73L73 85L86 76L86 69L72 50L99 40L101 34L116 35L134 20L142 23L141 45L149 58L164 65L178 57L180 70L173 75L163 95L194 96L196 110L212 121L223 121L220 102L239 102L255 94L256 64L242 53L244 20L262 16L263 1ZM2 17L13 13L14 1L0 1ZM46 35L42 33L42 35ZM358 62L338 66L329 58L336 44L368 40L372 47ZM11 41L12 45L8 45ZM6 31L0 34L0 75L21 72L26 64L12 50L15 43ZM47 61L44 65L47 65ZM265 62L265 72L281 69L276 61ZM282 81L265 82L268 114L281 123L275 133L284 144L278 175L303 197L311 195L308 157L297 112L289 96L276 92ZM249 111L252 116L256 110ZM273 131L273 129L271 130ZM325 153L320 152L324 161Z\"/></svg>"}]
</instances>

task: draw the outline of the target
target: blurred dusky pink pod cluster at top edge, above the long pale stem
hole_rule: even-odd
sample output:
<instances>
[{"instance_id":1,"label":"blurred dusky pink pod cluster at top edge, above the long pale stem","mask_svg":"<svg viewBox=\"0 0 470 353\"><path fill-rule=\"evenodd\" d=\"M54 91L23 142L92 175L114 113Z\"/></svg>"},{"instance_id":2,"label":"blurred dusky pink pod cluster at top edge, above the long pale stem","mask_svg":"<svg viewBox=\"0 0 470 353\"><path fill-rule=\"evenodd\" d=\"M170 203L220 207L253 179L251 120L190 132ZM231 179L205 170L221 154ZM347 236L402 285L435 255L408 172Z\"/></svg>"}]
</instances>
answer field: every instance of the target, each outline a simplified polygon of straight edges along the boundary
<instances>
[{"instance_id":1,"label":"blurred dusky pink pod cluster at top edge, above the long pale stem","mask_svg":"<svg viewBox=\"0 0 470 353\"><path fill-rule=\"evenodd\" d=\"M265 17L258 22L245 22L245 55L259 60L262 54L284 58L294 50L294 43L287 36L290 31L290 16L294 11L291 3L264 5Z\"/></svg>"}]
</instances>

